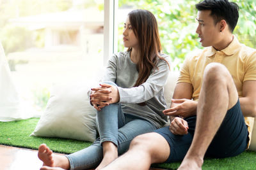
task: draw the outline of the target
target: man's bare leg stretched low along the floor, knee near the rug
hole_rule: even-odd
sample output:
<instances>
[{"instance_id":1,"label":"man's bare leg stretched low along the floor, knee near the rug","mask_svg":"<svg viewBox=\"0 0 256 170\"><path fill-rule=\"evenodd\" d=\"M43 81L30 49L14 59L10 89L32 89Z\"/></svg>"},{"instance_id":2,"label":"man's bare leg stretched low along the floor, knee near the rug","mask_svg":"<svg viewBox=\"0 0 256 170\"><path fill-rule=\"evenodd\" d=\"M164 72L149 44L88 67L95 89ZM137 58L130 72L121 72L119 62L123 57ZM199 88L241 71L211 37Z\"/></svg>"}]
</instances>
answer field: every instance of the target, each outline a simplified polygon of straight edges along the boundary
<instances>
[{"instance_id":1,"label":"man's bare leg stretched low along the floor, knee near the rug","mask_svg":"<svg viewBox=\"0 0 256 170\"><path fill-rule=\"evenodd\" d=\"M166 139L156 132L141 134L131 142L128 152L115 159L104 170L149 169L156 162L164 162L170 155ZM102 170L103 170L102 169Z\"/></svg>"}]
</instances>

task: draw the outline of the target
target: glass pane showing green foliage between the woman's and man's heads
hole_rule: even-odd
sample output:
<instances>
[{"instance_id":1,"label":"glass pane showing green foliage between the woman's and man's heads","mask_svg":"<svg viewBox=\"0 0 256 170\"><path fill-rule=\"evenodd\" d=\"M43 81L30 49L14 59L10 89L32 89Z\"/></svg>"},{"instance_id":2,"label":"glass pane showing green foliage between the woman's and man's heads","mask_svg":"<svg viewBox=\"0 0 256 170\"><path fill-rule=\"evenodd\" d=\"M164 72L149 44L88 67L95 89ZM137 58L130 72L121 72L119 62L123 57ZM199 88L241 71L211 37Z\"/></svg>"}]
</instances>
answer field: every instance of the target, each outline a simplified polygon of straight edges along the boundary
<instances>
[{"instance_id":1,"label":"glass pane showing green foliage between the woman's and man's heads","mask_svg":"<svg viewBox=\"0 0 256 170\"><path fill-rule=\"evenodd\" d=\"M199 42L193 42L193 38L196 37L196 11L193 10L195 3L195 1L188 0L119 0L118 12L127 15L126 11L134 9L151 11L157 19L163 53L170 55L172 60L171 69L177 70L182 64L186 53L191 52L191 46L199 45ZM122 30L121 22L124 21L120 20L120 32ZM122 50L121 40L119 39L118 41L119 50ZM196 46L196 48L198 47Z\"/></svg>"}]
</instances>

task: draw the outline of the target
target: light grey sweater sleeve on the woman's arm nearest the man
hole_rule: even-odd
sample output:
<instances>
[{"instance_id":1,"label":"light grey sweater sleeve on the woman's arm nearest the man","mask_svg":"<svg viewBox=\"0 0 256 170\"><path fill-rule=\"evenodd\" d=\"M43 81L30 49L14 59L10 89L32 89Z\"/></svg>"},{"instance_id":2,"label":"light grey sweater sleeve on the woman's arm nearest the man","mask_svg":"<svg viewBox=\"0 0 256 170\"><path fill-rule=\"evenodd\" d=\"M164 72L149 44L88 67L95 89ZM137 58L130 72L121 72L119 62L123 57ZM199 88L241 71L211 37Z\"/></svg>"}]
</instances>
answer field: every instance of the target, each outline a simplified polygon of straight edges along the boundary
<instances>
[{"instance_id":1,"label":"light grey sweater sleeve on the woman's arm nearest the man","mask_svg":"<svg viewBox=\"0 0 256 170\"><path fill-rule=\"evenodd\" d=\"M164 57L164 59L169 62L170 57ZM140 86L132 88L118 87L119 103L143 103L156 96L163 89L170 73L169 66L164 60L159 60L157 67L158 69L152 71L147 81Z\"/></svg>"}]
</instances>

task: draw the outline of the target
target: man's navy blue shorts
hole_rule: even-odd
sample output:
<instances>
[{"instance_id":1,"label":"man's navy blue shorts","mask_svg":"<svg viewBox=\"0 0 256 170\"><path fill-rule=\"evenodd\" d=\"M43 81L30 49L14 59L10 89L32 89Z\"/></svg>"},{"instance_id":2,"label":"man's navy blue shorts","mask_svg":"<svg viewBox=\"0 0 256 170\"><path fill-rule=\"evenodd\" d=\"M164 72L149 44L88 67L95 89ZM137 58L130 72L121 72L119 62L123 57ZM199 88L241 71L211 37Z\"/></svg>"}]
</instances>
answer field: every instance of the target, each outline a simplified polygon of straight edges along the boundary
<instances>
[{"instance_id":1,"label":"man's navy blue shorts","mask_svg":"<svg viewBox=\"0 0 256 170\"><path fill-rule=\"evenodd\" d=\"M188 122L188 134L180 136L170 132L169 127L157 129L170 145L170 156L166 162L176 162L184 159L191 145L196 125L196 116L184 118ZM246 150L248 144L248 129L244 122L239 100L236 105L227 111L227 114L218 129L214 139L207 149L206 157L223 158L233 157Z\"/></svg>"}]
</instances>

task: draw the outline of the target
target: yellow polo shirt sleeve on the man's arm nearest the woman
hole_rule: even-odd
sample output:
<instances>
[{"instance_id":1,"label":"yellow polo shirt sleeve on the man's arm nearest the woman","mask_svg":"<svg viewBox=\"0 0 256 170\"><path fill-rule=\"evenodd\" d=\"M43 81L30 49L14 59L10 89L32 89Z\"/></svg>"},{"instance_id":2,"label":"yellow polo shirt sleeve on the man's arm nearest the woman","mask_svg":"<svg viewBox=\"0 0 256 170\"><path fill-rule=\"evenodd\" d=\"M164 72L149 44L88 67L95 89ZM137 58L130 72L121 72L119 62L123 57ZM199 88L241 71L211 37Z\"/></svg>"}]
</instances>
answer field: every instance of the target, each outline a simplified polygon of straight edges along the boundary
<instances>
[{"instance_id":1,"label":"yellow polo shirt sleeve on the man's arm nearest the woman","mask_svg":"<svg viewBox=\"0 0 256 170\"><path fill-rule=\"evenodd\" d=\"M190 64L191 57L186 57L183 62L183 65L180 69L180 76L178 78L177 83L191 83L190 74L189 74L189 64Z\"/></svg>"}]
</instances>

